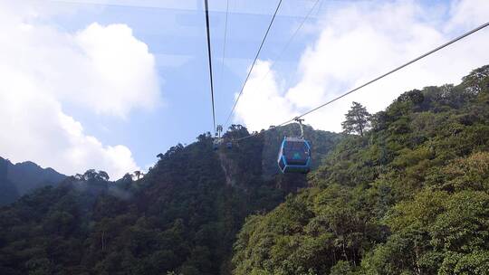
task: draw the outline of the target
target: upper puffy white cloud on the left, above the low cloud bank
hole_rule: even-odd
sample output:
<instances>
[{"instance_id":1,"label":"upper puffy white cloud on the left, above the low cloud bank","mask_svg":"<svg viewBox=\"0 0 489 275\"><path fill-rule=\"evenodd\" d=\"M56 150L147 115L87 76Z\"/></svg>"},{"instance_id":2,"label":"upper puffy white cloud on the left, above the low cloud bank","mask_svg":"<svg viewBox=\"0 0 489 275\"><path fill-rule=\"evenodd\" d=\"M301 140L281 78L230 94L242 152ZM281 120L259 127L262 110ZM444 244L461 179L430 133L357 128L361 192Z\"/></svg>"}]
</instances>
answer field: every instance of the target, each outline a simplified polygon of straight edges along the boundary
<instances>
[{"instance_id":1,"label":"upper puffy white cloud on the left, above the low cloud bank","mask_svg":"<svg viewBox=\"0 0 489 275\"><path fill-rule=\"evenodd\" d=\"M158 104L155 59L125 24L94 23L73 34L33 24L18 24L9 31L14 37L10 43L21 46L3 52L43 92L119 117Z\"/></svg>"}]
</instances>

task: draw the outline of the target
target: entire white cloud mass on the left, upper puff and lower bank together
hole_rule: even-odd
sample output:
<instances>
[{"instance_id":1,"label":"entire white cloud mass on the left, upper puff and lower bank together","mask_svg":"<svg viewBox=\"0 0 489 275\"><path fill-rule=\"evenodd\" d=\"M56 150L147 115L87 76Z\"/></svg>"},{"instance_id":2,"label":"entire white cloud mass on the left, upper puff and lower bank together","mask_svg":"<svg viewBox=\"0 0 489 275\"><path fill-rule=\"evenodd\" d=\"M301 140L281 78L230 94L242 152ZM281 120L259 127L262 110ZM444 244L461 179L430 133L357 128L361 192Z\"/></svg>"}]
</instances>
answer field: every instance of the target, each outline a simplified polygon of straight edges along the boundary
<instances>
[{"instance_id":1,"label":"entire white cloud mass on the left, upper puff and lower bank together","mask_svg":"<svg viewBox=\"0 0 489 275\"><path fill-rule=\"evenodd\" d=\"M0 4L0 156L112 178L139 169L128 147L103 145L62 106L125 118L159 102L155 60L125 24L75 33L36 23L35 5Z\"/></svg>"}]
</instances>

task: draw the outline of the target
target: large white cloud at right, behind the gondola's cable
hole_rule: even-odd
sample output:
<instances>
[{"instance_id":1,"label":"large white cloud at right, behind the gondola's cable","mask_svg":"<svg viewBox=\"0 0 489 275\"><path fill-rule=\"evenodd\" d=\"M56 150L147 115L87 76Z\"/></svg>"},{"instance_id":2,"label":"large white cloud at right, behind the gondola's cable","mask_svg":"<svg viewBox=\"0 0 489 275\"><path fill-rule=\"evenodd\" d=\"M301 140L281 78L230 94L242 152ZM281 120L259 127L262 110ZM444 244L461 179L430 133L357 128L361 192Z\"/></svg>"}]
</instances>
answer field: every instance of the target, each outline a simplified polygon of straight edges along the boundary
<instances>
[{"instance_id":1,"label":"large white cloud at right, behind the gondola's cable","mask_svg":"<svg viewBox=\"0 0 489 275\"><path fill-rule=\"evenodd\" d=\"M273 106L277 101L282 102L288 107L283 110L288 113L279 119L246 124L252 129L267 128L269 124L283 122L296 113L315 108L484 23L483 20L489 18L488 6L484 0L456 1L451 5L430 8L414 1L341 5L324 17L318 30L319 38L302 53L297 71L300 80L295 84L287 83L288 88L283 87L283 90L274 90L272 100L260 98L260 106L268 108L258 109L254 102L247 102L249 109L242 106L235 119L246 124L250 116L275 118ZM459 82L472 69L489 63L486 50L489 48L488 34L488 30L476 33L336 101L306 116L306 123L316 128L340 131L343 114L353 100L376 112L406 90ZM281 81L279 73L273 71L273 75L272 81ZM276 84L270 82L268 86L276 87ZM256 88L245 92L258 96L269 90ZM243 98L251 97L250 94L244 93Z\"/></svg>"}]
</instances>

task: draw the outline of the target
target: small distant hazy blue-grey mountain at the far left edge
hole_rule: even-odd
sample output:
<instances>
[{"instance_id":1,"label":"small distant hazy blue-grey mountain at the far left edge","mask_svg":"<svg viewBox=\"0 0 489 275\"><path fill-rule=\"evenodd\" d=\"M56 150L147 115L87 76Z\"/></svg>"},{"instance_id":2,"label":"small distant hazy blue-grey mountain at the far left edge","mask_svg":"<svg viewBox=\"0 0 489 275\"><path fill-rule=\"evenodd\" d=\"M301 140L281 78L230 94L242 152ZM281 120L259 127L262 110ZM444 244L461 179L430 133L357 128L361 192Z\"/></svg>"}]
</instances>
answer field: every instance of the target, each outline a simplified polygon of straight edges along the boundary
<instances>
[{"instance_id":1,"label":"small distant hazy blue-grey mountain at the far left edge","mask_svg":"<svg viewBox=\"0 0 489 275\"><path fill-rule=\"evenodd\" d=\"M0 157L0 205L10 204L21 195L46 185L57 185L66 178L52 168L42 168L34 162L12 164Z\"/></svg>"}]
</instances>

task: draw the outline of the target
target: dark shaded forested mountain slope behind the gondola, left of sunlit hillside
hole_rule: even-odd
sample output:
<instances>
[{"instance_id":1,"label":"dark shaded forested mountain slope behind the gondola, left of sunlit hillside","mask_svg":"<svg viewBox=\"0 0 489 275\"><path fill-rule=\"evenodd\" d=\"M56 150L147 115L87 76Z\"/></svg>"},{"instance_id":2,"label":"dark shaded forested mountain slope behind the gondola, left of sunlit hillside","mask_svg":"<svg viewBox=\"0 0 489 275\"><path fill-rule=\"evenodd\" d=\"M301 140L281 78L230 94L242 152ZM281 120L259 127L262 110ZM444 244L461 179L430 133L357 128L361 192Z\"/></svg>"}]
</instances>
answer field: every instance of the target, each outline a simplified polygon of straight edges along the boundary
<instances>
[{"instance_id":1,"label":"dark shaded forested mountain slope behind the gondola, left of sunlit hillside","mask_svg":"<svg viewBox=\"0 0 489 275\"><path fill-rule=\"evenodd\" d=\"M235 125L225 138L246 135ZM158 155L140 179L112 183L89 170L24 195L0 209L0 274L230 274L245 217L271 211L307 185L305 175L268 166L276 166L278 135L217 151L209 134L200 135ZM340 135L312 137L319 163Z\"/></svg>"}]
</instances>

